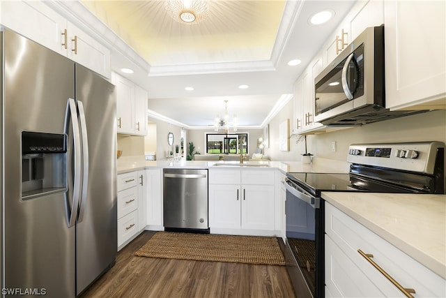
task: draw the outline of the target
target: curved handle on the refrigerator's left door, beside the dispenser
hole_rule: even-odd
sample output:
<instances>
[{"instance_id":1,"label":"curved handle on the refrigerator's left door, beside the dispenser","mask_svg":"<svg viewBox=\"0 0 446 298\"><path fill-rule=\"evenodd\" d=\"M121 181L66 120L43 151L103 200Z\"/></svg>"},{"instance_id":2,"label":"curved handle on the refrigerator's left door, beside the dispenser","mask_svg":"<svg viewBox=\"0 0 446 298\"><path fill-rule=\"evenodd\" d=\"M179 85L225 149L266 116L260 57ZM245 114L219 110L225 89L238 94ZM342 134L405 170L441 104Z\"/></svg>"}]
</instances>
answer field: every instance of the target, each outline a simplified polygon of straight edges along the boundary
<instances>
[{"instance_id":1,"label":"curved handle on the refrigerator's left door, beside the dispenser","mask_svg":"<svg viewBox=\"0 0 446 298\"><path fill-rule=\"evenodd\" d=\"M73 188L72 188L72 200L71 200L71 206L68 206L68 227L71 228L76 223L77 218L77 209L79 208L79 196L81 191L81 138L79 133L79 121L77 120L77 108L75 100L72 98L68 98L67 103L67 111L66 111L66 128L65 133L68 134L68 128L69 128L69 119L71 119L72 124L72 135L73 135L73 147L74 147L74 154L75 154L75 174L74 174L74 182L73 182ZM70 192L68 192L70 193Z\"/></svg>"}]
</instances>

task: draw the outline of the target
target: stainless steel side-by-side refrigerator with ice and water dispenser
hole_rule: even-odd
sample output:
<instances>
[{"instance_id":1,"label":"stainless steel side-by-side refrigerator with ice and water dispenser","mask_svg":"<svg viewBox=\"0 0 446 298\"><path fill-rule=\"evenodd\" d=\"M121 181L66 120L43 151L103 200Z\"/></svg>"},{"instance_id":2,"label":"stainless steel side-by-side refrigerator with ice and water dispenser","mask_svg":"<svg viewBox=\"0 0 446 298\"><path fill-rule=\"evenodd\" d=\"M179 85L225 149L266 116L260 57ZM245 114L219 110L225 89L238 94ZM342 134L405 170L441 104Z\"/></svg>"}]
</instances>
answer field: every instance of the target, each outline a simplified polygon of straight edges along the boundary
<instances>
[{"instance_id":1,"label":"stainless steel side-by-side refrigerator with ice and water dispenser","mask_svg":"<svg viewBox=\"0 0 446 298\"><path fill-rule=\"evenodd\" d=\"M0 30L1 295L75 297L114 265L114 86Z\"/></svg>"}]
</instances>

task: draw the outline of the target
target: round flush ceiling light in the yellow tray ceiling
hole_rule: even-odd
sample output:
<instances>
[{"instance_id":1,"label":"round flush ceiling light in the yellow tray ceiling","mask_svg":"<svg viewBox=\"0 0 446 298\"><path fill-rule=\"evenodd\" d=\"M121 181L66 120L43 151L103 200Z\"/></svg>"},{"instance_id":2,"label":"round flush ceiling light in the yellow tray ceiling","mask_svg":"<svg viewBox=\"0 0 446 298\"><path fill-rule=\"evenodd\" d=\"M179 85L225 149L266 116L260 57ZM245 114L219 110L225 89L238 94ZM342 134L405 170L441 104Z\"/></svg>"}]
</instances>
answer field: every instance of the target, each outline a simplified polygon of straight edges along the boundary
<instances>
[{"instance_id":1,"label":"round flush ceiling light in the yellow tray ceiling","mask_svg":"<svg viewBox=\"0 0 446 298\"><path fill-rule=\"evenodd\" d=\"M183 24L198 24L208 17L209 0L167 0L167 13Z\"/></svg>"}]
</instances>

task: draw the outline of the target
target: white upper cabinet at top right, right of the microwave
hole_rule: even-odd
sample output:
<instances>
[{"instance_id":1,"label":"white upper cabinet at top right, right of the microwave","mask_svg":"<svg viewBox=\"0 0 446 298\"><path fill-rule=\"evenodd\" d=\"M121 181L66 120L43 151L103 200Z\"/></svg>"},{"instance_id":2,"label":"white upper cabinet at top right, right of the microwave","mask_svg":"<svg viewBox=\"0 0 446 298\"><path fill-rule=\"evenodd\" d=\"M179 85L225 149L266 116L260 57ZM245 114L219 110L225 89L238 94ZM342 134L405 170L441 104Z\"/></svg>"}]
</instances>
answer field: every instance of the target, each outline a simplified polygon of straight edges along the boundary
<instances>
[{"instance_id":1,"label":"white upper cabinet at top right, right of the microwave","mask_svg":"<svg viewBox=\"0 0 446 298\"><path fill-rule=\"evenodd\" d=\"M446 108L445 1L385 1L385 102Z\"/></svg>"}]
</instances>

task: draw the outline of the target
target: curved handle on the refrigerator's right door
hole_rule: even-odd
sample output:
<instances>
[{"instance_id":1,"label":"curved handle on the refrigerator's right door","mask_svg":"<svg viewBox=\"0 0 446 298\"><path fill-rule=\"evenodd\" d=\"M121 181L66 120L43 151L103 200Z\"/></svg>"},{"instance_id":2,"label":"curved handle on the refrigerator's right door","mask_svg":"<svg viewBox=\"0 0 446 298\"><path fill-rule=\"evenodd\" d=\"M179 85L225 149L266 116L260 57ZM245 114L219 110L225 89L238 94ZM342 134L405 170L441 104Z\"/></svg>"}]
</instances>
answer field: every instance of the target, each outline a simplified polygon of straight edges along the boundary
<instances>
[{"instance_id":1,"label":"curved handle on the refrigerator's right door","mask_svg":"<svg viewBox=\"0 0 446 298\"><path fill-rule=\"evenodd\" d=\"M86 133L84 105L80 100L77 100L77 111L79 112L82 135L82 193L79 200L79 216L77 217L77 222L80 223L84 219L86 193L89 187L89 140Z\"/></svg>"}]
</instances>

